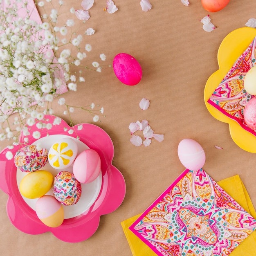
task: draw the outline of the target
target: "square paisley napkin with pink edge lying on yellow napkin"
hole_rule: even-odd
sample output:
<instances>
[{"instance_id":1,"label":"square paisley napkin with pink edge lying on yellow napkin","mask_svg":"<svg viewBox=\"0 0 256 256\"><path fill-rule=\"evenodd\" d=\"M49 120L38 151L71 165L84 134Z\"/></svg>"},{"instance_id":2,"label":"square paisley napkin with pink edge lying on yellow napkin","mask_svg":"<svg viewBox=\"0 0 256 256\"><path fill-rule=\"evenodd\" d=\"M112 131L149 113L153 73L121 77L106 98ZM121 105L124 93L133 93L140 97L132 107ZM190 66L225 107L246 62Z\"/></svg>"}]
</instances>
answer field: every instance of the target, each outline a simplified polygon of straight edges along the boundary
<instances>
[{"instance_id":1,"label":"square paisley napkin with pink edge lying on yellow napkin","mask_svg":"<svg viewBox=\"0 0 256 256\"><path fill-rule=\"evenodd\" d=\"M186 169L129 229L157 255L224 256L256 220L202 169Z\"/></svg>"}]
</instances>

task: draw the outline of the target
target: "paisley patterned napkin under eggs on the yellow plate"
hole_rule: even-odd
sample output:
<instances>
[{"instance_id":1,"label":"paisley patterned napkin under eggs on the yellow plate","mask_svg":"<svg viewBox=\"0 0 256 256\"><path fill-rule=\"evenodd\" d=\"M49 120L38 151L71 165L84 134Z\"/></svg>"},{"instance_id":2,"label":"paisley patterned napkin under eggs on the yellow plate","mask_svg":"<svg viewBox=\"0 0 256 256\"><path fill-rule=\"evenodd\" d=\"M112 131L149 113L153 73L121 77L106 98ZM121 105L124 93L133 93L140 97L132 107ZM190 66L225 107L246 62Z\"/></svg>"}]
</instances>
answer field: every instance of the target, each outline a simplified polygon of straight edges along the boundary
<instances>
[{"instance_id":1,"label":"paisley patterned napkin under eggs on the yellow plate","mask_svg":"<svg viewBox=\"0 0 256 256\"><path fill-rule=\"evenodd\" d=\"M243 109L254 96L247 93L243 81L247 72L255 65L256 38L236 60L226 76L207 101L227 117L234 119L242 128L256 135L244 121Z\"/></svg>"}]
</instances>

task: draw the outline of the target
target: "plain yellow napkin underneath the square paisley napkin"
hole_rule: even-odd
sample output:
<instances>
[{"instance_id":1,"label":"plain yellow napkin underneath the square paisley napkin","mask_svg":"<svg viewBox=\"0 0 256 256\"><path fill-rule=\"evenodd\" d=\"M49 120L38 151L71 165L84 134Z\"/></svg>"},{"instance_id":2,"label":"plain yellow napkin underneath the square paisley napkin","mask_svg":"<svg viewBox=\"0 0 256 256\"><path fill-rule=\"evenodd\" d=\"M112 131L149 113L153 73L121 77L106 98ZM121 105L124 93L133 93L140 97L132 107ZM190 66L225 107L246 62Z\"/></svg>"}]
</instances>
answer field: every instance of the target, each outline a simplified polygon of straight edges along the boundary
<instances>
[{"instance_id":1,"label":"plain yellow napkin underneath the square paisley napkin","mask_svg":"<svg viewBox=\"0 0 256 256\"><path fill-rule=\"evenodd\" d=\"M218 184L224 189L241 207L245 209L252 217L256 218L256 211L253 207L252 201L249 198L243 182L239 175L221 180ZM133 256L157 256L144 242L142 242L135 234L128 229L141 214L124 220L121 222L124 233L130 245ZM252 232L233 252L231 256L256 256L256 230Z\"/></svg>"}]
</instances>

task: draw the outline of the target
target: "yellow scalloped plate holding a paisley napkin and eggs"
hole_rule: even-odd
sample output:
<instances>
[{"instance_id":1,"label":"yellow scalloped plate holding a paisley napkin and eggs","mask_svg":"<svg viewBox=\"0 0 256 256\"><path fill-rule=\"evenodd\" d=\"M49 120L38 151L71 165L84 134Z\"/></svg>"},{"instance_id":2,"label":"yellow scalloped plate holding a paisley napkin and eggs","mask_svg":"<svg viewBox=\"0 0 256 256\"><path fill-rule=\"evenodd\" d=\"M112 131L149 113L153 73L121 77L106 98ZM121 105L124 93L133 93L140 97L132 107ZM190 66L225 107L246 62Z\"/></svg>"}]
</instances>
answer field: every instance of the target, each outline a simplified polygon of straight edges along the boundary
<instances>
[{"instance_id":1,"label":"yellow scalloped plate holding a paisley napkin and eggs","mask_svg":"<svg viewBox=\"0 0 256 256\"><path fill-rule=\"evenodd\" d=\"M220 44L218 50L219 70L214 72L206 82L204 88L204 103L213 117L229 124L229 132L234 142L243 150L256 153L256 137L244 130L238 122L227 117L207 101L220 84L229 69L252 42L256 36L256 29L242 27L229 33Z\"/></svg>"}]
</instances>

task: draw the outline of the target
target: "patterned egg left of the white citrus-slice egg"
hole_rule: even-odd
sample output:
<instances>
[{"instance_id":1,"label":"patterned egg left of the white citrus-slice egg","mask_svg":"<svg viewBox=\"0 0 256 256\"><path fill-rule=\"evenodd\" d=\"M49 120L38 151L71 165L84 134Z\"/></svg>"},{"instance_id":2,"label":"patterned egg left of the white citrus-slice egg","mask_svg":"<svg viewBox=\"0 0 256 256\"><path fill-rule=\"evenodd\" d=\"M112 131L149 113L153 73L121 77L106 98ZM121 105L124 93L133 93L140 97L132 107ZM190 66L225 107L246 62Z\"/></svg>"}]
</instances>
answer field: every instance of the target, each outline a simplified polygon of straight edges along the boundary
<instances>
[{"instance_id":1,"label":"patterned egg left of the white citrus-slice egg","mask_svg":"<svg viewBox=\"0 0 256 256\"><path fill-rule=\"evenodd\" d=\"M14 156L14 164L20 171L31 173L39 170L48 161L48 151L45 148L36 149L36 145L20 148Z\"/></svg>"}]
</instances>

